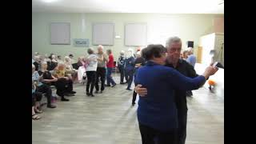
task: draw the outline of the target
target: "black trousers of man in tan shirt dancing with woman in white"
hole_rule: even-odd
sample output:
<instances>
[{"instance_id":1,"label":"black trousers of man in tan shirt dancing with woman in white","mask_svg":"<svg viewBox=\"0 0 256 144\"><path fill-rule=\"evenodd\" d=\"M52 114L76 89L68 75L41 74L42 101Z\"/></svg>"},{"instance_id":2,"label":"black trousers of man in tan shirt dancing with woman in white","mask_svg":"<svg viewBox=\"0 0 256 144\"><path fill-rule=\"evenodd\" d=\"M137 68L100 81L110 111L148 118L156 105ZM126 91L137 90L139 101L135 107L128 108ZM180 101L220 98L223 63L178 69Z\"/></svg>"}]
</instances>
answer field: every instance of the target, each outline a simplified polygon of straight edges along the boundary
<instances>
[{"instance_id":1,"label":"black trousers of man in tan shirt dancing with woman in white","mask_svg":"<svg viewBox=\"0 0 256 144\"><path fill-rule=\"evenodd\" d=\"M101 80L101 90L105 89L105 80L106 80L106 68L105 67L98 67L96 71L96 82L95 82L95 89L98 91L98 80Z\"/></svg>"}]
</instances>

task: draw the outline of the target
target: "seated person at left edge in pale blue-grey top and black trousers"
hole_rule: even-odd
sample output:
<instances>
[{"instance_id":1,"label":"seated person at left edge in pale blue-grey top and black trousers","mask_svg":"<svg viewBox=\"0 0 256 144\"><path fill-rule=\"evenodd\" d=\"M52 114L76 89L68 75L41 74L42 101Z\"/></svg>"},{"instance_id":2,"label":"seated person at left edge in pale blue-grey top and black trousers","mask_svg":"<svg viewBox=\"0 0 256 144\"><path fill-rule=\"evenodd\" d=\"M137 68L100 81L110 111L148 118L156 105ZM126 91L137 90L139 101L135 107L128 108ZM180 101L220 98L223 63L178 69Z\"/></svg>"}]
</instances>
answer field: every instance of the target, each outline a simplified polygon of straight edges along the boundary
<instances>
[{"instance_id":1,"label":"seated person at left edge in pale blue-grey top and black trousers","mask_svg":"<svg viewBox=\"0 0 256 144\"><path fill-rule=\"evenodd\" d=\"M56 106L51 104L51 89L50 86L43 84L41 82L41 77L38 74L38 71L35 70L35 66L32 64L32 82L35 82L37 84L37 91L41 93L46 94L47 98L47 107L48 108L55 108Z\"/></svg>"}]
</instances>

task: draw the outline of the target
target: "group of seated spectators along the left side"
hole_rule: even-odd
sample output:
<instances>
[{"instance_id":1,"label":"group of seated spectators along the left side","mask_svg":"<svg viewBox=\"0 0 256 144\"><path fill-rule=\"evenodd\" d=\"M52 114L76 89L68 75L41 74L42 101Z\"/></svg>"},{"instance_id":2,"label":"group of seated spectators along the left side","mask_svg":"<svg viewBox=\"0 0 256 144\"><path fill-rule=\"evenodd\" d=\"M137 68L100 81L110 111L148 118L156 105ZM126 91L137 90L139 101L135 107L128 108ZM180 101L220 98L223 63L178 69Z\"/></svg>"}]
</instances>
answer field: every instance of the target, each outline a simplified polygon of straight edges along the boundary
<instances>
[{"instance_id":1,"label":"group of seated spectators along the left side","mask_svg":"<svg viewBox=\"0 0 256 144\"><path fill-rule=\"evenodd\" d=\"M54 55L51 58L54 59ZM61 97L62 101L69 101L65 96L74 96L76 93L73 90L73 78L70 67L66 68L65 62L54 60L42 60L38 56L32 59L32 119L34 120L40 119L37 114L42 113L40 106L42 95L45 95L47 98L48 108L56 107L52 101L51 86L55 86L56 94ZM53 70L50 70L49 66L53 65L56 66Z\"/></svg>"}]
</instances>

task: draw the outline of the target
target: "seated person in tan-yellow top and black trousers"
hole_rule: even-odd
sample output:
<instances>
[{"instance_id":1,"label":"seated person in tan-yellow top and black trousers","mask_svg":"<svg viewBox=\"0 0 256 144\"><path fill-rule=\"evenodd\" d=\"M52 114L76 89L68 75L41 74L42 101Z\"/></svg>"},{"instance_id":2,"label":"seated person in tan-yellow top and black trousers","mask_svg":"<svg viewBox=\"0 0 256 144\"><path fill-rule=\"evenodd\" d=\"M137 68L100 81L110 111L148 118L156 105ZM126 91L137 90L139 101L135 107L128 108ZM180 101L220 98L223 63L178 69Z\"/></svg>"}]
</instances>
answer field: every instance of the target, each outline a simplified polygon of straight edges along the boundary
<instances>
[{"instance_id":1,"label":"seated person in tan-yellow top and black trousers","mask_svg":"<svg viewBox=\"0 0 256 144\"><path fill-rule=\"evenodd\" d=\"M57 94L62 97L62 101L69 101L69 99L64 98L64 95L74 96L76 92L73 91L73 81L70 75L66 74L66 66L64 63L58 63L57 69L54 70L54 78L58 78L55 84Z\"/></svg>"}]
</instances>

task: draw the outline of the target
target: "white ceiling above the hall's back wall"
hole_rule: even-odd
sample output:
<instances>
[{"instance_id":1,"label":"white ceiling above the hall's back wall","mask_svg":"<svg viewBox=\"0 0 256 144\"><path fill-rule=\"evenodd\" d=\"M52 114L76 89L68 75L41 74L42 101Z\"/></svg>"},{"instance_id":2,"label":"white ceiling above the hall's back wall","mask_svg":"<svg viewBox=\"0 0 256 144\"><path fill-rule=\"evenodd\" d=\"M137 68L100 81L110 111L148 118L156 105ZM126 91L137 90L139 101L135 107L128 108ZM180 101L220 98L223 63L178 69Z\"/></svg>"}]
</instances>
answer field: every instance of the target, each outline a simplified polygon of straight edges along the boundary
<instances>
[{"instance_id":1,"label":"white ceiling above the hall's back wall","mask_svg":"<svg viewBox=\"0 0 256 144\"><path fill-rule=\"evenodd\" d=\"M224 0L32 0L33 12L224 14Z\"/></svg>"}]
</instances>

